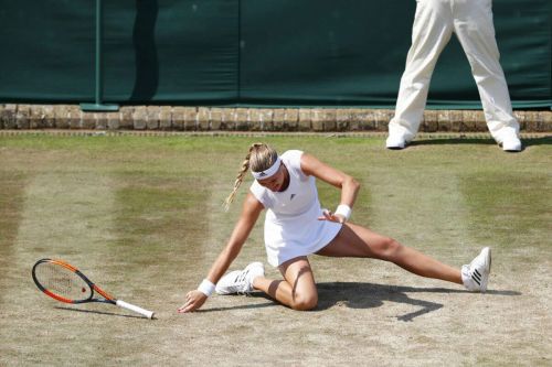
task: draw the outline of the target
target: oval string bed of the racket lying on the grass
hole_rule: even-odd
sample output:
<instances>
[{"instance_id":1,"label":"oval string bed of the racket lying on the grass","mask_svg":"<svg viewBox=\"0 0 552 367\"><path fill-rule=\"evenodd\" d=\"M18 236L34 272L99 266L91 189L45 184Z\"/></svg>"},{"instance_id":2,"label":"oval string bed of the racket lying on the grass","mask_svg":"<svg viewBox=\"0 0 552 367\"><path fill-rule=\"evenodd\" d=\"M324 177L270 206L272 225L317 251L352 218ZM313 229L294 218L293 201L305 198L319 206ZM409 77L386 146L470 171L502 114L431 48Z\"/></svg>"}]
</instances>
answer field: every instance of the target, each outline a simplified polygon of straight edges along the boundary
<instances>
[{"instance_id":1,"label":"oval string bed of the racket lying on the grass","mask_svg":"<svg viewBox=\"0 0 552 367\"><path fill-rule=\"evenodd\" d=\"M81 301L91 296L91 288L75 272L51 262L43 262L35 269L35 276L43 288L62 298Z\"/></svg>"}]
</instances>

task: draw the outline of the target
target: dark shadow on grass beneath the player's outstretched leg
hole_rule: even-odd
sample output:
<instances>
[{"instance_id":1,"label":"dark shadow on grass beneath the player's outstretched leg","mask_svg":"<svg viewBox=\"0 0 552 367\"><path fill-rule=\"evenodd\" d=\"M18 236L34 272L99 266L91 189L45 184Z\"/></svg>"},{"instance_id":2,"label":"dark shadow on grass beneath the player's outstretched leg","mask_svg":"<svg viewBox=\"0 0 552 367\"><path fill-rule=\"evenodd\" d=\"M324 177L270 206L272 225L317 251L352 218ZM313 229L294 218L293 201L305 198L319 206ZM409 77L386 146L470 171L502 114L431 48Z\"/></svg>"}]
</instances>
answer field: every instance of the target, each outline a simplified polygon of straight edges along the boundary
<instances>
[{"instance_id":1,"label":"dark shadow on grass beneath the player's outstretched leg","mask_svg":"<svg viewBox=\"0 0 552 367\"><path fill-rule=\"evenodd\" d=\"M351 309L371 309L383 305L383 301L405 303L420 306L418 311L407 313L396 319L412 321L413 319L443 307L443 304L412 299L407 293L470 293L465 290L446 288L412 288L392 287L360 282L332 282L318 284L318 311L330 309L335 305L344 305ZM521 295L514 291L492 291L489 295Z\"/></svg>"}]
</instances>

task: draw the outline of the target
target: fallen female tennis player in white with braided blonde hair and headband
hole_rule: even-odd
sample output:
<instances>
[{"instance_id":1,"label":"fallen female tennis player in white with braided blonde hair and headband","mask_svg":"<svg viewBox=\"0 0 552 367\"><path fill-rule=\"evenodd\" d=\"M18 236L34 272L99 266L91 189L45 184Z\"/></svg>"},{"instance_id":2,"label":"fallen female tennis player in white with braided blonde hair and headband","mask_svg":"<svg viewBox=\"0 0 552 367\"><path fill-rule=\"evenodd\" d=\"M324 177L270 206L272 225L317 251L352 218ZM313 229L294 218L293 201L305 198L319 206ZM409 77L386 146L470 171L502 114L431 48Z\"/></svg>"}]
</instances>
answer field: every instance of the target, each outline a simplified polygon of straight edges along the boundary
<instances>
[{"instance_id":1,"label":"fallen female tennis player in white with braided blonde hair and headband","mask_svg":"<svg viewBox=\"0 0 552 367\"><path fill-rule=\"evenodd\" d=\"M199 288L188 292L179 312L198 310L214 291L231 294L254 290L263 291L294 310L311 310L318 303L318 292L307 257L314 253L386 260L422 277L464 284L469 291L486 291L491 265L489 248L484 248L471 263L455 269L390 237L348 222L359 183L298 150L278 156L267 144L252 144L226 205L234 199L248 169L255 181L230 240ZM316 179L341 190L340 204L335 212L321 208ZM265 278L262 262L252 262L244 270L223 277L263 209L267 211L264 239L268 263L277 267L284 279Z\"/></svg>"}]
</instances>

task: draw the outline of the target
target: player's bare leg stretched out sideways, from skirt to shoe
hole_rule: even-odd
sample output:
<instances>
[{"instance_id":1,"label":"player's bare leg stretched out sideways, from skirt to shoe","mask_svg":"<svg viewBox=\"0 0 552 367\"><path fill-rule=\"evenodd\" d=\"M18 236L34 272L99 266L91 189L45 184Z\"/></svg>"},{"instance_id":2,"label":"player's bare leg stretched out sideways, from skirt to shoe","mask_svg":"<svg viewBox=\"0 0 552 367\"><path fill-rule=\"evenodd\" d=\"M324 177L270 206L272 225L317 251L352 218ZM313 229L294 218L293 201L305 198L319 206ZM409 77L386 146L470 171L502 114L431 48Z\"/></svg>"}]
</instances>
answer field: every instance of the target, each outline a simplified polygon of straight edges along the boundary
<instances>
[{"instance_id":1,"label":"player's bare leg stretched out sideways, from skirt to shoe","mask_svg":"<svg viewBox=\"0 0 552 367\"><path fill-rule=\"evenodd\" d=\"M459 269L444 265L415 249L399 244L392 238L350 223L343 225L338 236L317 255L391 261L421 277L463 284Z\"/></svg>"}]
</instances>

